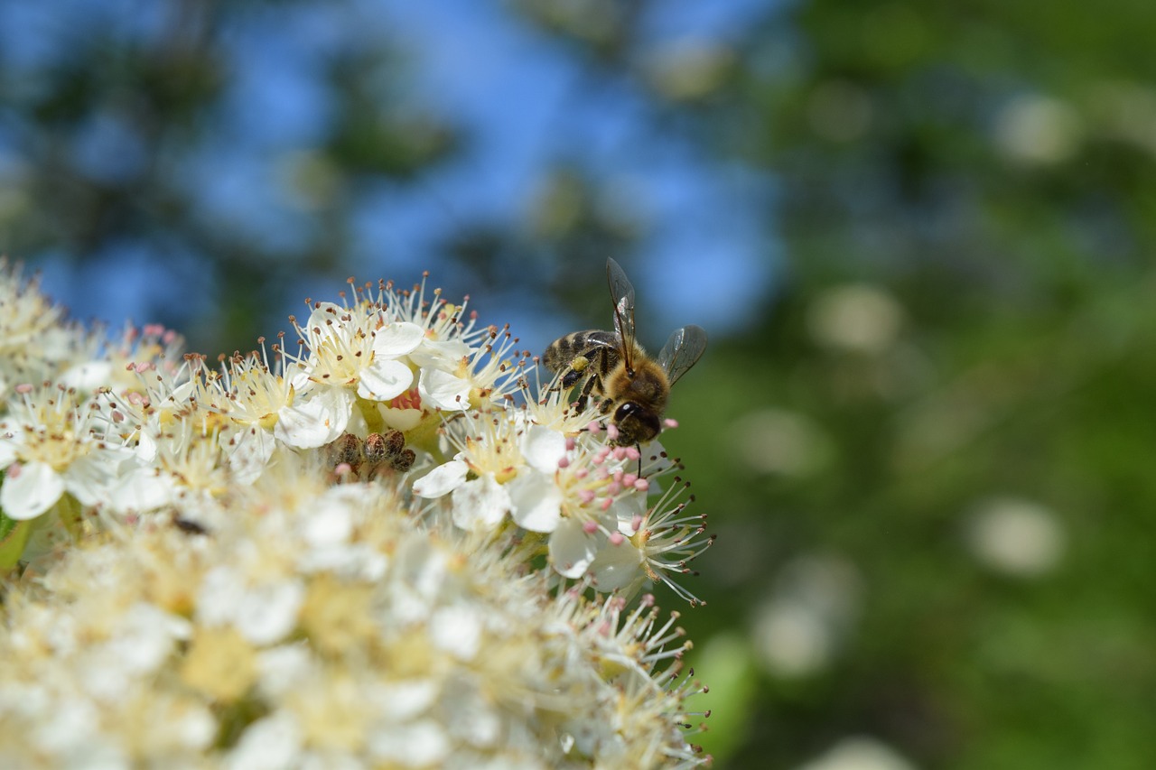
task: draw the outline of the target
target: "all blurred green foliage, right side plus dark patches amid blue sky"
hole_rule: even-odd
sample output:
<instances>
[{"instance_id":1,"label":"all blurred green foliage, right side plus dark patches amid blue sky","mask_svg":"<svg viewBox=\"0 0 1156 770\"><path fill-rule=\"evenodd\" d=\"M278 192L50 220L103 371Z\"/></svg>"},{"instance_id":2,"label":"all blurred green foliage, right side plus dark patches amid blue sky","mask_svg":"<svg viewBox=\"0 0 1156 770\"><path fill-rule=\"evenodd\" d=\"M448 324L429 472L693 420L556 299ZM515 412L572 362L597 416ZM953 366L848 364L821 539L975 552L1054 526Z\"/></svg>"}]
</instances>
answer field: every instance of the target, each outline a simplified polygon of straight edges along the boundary
<instances>
[{"instance_id":1,"label":"all blurred green foliage, right side plus dark patches amid blue sky","mask_svg":"<svg viewBox=\"0 0 1156 770\"><path fill-rule=\"evenodd\" d=\"M707 605L682 619L712 686L701 742L722 768L867 767L864 746L897 769L1150 767L1156 15L814 0L657 66L632 55L647 6L512 7L592 81L644 89L713 162L777 179L781 282L672 406L667 444L720 535L689 583ZM222 275L231 339L287 257L191 214L163 163L206 129L222 23L151 51L92 40L9 105L43 151L8 243L188 238ZM468 142L375 98L373 77L406 75L385 53L331 68L342 110L304 170L336 192L289 258L318 273L343 268L353 190ZM97 184L54 147L109 92L133 95L157 162ZM601 260L629 269L645 224L596 205L598 170L542 176L523 228L450 222L444 246L483 283L536 276L605 325ZM638 283L640 311L661 302Z\"/></svg>"}]
</instances>

